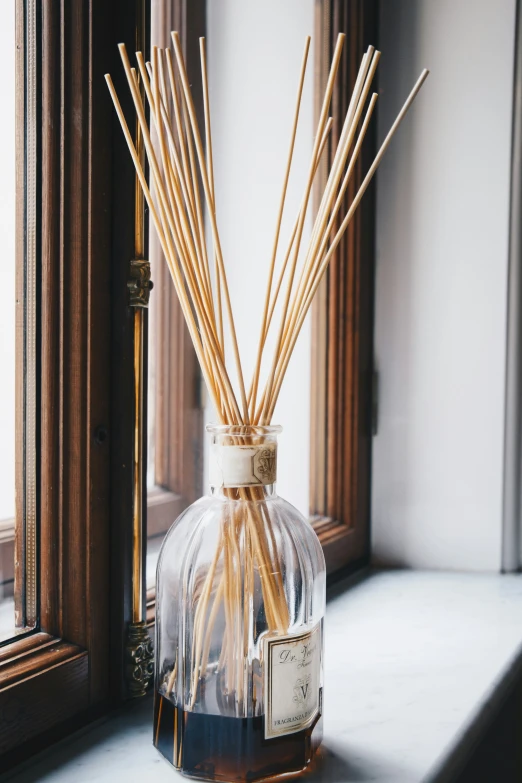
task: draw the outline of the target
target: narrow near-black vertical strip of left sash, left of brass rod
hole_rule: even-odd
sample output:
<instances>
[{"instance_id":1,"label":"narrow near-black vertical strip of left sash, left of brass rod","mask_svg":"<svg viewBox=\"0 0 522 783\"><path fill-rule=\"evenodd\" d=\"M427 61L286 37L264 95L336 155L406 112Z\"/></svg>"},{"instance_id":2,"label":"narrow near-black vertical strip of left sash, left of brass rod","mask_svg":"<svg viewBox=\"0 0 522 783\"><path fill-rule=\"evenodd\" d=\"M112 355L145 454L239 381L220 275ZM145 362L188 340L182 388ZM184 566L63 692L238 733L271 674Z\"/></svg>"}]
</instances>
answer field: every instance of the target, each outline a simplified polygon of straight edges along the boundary
<instances>
[{"instance_id":1,"label":"narrow near-black vertical strip of left sash, left of brass rod","mask_svg":"<svg viewBox=\"0 0 522 783\"><path fill-rule=\"evenodd\" d=\"M107 699L110 656L110 541L111 517L111 162L114 141L109 129L113 107L107 98L103 75L112 67L118 30L107 24L103 3L89 3L85 19L88 37L88 66L83 89L88 101L83 154L87 156L86 184L86 279L87 298L84 339L86 344L82 443L86 451L84 498L85 516L78 524L86 526L86 594L88 598L89 697L91 704ZM95 39L93 39L95 35ZM119 140L122 143L122 140ZM68 637L72 638L72 637ZM78 642L78 639L74 639Z\"/></svg>"}]
</instances>

